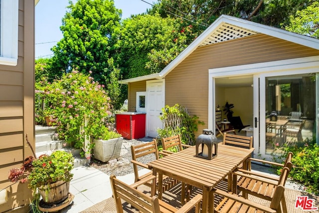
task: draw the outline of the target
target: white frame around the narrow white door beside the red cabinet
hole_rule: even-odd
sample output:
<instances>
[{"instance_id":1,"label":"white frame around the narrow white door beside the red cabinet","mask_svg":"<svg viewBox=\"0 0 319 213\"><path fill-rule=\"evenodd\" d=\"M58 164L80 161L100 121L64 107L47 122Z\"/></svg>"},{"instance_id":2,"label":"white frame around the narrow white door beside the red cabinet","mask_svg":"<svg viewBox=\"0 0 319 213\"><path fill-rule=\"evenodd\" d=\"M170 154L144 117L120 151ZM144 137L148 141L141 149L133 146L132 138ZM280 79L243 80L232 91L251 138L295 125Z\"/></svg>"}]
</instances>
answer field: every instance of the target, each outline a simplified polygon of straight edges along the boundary
<instances>
[{"instance_id":1,"label":"white frame around the narrow white door beside the red cabinet","mask_svg":"<svg viewBox=\"0 0 319 213\"><path fill-rule=\"evenodd\" d=\"M165 79L157 79L157 80L149 80L146 81L146 91L147 91L147 104L146 104L146 136L150 136L149 135L149 131L150 131L150 102L152 101L149 95L149 86L151 83L155 83L155 82L161 82L162 83L162 90L161 90L161 100L160 100L160 106L158 106L160 109L165 107ZM160 116L160 114L159 114ZM160 128L162 128L162 125L160 126Z\"/></svg>"}]
</instances>

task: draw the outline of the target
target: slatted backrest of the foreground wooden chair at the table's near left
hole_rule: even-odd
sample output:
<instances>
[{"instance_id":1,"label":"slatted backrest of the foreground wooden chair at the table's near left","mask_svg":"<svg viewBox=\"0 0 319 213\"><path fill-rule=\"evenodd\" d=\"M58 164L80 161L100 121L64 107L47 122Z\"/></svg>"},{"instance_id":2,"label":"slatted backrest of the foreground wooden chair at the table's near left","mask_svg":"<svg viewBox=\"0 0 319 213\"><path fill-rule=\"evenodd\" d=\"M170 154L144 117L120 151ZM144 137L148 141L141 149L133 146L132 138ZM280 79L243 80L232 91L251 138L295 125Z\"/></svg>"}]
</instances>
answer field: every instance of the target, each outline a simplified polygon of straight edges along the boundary
<instances>
[{"instance_id":1,"label":"slatted backrest of the foreground wooden chair at the table's near left","mask_svg":"<svg viewBox=\"0 0 319 213\"><path fill-rule=\"evenodd\" d=\"M154 202L157 197L147 196L137 189L123 183L116 179L115 175L110 176L110 182L112 185L113 197L116 204L117 212L123 213L123 206L121 199L132 205L142 213L160 213L159 202ZM152 204L157 203L157 206L153 207Z\"/></svg>"}]
</instances>

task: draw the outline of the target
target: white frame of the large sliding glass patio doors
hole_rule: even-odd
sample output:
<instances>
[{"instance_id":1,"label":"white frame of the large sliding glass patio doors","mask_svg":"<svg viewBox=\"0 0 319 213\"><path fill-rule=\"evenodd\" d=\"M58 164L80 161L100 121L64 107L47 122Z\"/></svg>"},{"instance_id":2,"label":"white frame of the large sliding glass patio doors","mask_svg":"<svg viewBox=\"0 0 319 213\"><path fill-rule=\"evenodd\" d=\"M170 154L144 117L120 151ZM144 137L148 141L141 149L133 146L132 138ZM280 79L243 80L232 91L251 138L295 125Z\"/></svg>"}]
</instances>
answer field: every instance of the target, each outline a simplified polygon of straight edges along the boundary
<instances>
[{"instance_id":1,"label":"white frame of the large sliding glass patio doors","mask_svg":"<svg viewBox=\"0 0 319 213\"><path fill-rule=\"evenodd\" d=\"M281 76L281 75L293 75L303 73L317 73L319 72L319 56L310 56L303 58L287 59L280 61L270 61L255 64L246 64L231 67L221 67L208 70L209 82L208 82L208 128L214 128L215 121L215 78L216 77L230 77L230 76L242 76L242 75L254 75L254 100L259 96L259 103L254 101L254 118L259 117L258 121L265 121L266 114L262 113L266 111L266 97L265 97L265 78L268 76ZM259 94L257 92L257 85L259 81ZM318 108L318 107L317 107ZM318 123L318 118L317 122ZM255 125L255 124L254 124ZM318 129L318 126L317 126ZM270 155L266 155L265 140L259 139L265 138L266 127L265 123L259 123L257 128L254 126L254 153L261 154L262 158L270 159ZM317 140L319 136L317 131ZM260 134L259 134L260 133ZM317 141L318 143L318 141Z\"/></svg>"}]
</instances>

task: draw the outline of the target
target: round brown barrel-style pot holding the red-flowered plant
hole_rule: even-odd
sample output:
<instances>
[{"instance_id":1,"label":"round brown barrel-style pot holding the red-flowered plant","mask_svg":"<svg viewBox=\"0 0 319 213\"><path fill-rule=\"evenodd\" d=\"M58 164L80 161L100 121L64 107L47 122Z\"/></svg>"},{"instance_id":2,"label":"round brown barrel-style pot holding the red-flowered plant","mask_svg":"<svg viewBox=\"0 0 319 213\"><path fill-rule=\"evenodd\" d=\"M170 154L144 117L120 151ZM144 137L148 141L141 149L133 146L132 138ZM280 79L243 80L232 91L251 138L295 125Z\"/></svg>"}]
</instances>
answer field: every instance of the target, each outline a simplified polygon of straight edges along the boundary
<instances>
[{"instance_id":1,"label":"round brown barrel-style pot holding the red-flowered plant","mask_svg":"<svg viewBox=\"0 0 319 213\"><path fill-rule=\"evenodd\" d=\"M57 204L65 199L69 195L70 182L58 181L49 186L39 188L39 193L44 203Z\"/></svg>"}]
</instances>

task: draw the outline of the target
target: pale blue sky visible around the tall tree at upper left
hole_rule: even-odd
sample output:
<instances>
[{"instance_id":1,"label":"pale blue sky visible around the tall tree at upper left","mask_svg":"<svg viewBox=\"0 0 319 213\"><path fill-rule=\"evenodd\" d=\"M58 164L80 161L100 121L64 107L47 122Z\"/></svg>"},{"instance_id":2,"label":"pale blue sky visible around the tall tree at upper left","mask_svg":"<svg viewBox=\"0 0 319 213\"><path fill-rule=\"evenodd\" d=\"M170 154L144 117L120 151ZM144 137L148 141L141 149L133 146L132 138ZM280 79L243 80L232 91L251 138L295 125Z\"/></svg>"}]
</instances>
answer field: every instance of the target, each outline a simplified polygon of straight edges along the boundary
<instances>
[{"instance_id":1,"label":"pale blue sky visible around the tall tree at upper left","mask_svg":"<svg viewBox=\"0 0 319 213\"><path fill-rule=\"evenodd\" d=\"M149 3L156 0L144 0ZM152 5L142 0L114 0L116 8L122 9L122 18L146 12ZM51 47L63 36L60 31L62 17L69 0L40 0L35 6L35 59L51 57Z\"/></svg>"}]
</instances>

